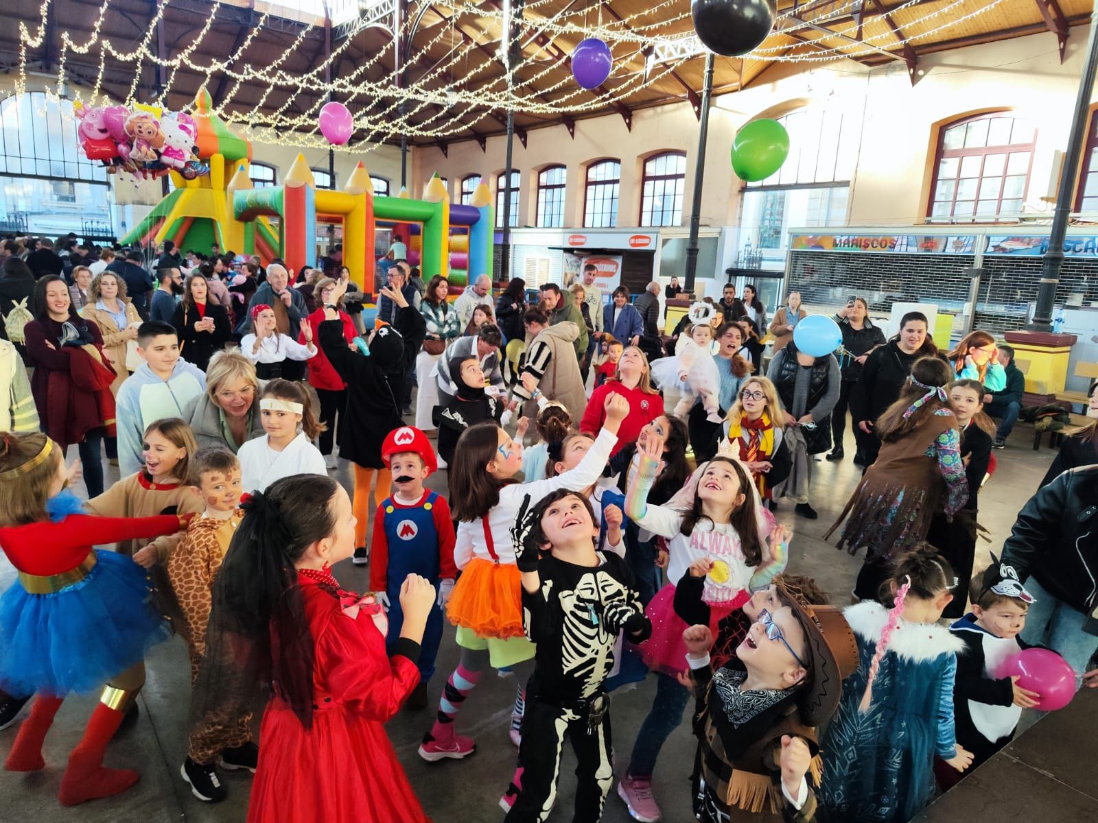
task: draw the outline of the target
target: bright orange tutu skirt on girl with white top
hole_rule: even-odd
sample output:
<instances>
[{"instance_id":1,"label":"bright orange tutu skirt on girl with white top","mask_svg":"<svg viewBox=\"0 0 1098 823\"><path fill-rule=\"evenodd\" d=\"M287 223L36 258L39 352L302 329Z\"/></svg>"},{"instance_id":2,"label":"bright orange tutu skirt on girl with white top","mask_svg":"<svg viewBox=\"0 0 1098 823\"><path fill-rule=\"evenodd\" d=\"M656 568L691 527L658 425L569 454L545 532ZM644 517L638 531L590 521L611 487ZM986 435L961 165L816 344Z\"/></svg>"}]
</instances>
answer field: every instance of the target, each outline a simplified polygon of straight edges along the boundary
<instances>
[{"instance_id":1,"label":"bright orange tutu skirt on girl with white top","mask_svg":"<svg viewBox=\"0 0 1098 823\"><path fill-rule=\"evenodd\" d=\"M526 636L518 566L473 557L453 586L446 616L482 638Z\"/></svg>"}]
</instances>

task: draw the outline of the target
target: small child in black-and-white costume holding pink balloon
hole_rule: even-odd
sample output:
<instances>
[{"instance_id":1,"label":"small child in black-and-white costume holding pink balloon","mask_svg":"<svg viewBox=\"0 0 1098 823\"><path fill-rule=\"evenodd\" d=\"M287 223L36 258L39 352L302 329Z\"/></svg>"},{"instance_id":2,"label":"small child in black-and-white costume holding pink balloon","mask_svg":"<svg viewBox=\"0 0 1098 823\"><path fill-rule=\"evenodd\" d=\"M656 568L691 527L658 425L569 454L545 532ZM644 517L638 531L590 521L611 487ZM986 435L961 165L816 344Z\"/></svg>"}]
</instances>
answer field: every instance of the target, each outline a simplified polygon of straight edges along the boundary
<instances>
[{"instance_id":1,"label":"small child in black-and-white costume holding pink balloon","mask_svg":"<svg viewBox=\"0 0 1098 823\"><path fill-rule=\"evenodd\" d=\"M1041 695L1019 686L1017 676L997 675L1004 662L1032 647L1019 635L1033 595L1018 582L1018 573L993 554L991 566L973 579L970 596L972 611L950 625L965 645L957 655L953 720L957 743L972 752L971 768L976 768L1013 740L1022 709L1037 706ZM940 759L934 760L934 776L942 789L961 780Z\"/></svg>"}]
</instances>

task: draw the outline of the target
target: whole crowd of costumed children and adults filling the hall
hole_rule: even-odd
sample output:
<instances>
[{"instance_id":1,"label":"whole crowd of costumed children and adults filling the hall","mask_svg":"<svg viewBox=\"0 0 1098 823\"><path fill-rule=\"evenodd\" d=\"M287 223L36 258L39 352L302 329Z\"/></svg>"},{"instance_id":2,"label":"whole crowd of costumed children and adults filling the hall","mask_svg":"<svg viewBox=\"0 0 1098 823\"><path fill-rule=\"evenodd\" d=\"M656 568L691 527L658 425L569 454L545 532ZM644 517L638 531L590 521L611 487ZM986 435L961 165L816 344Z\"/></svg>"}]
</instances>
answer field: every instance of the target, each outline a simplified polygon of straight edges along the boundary
<instances>
[{"instance_id":1,"label":"whole crowd of costumed children and adults filling the hall","mask_svg":"<svg viewBox=\"0 0 1098 823\"><path fill-rule=\"evenodd\" d=\"M797 346L798 294L770 315L727 284L665 337L677 282L604 296L587 267L493 300L481 274L451 301L400 241L367 330L338 249L294 273L165 243L154 288L139 251L104 250L97 271L76 238L59 246L68 262L7 241L0 277L0 548L19 571L0 600L0 729L29 704L5 768L41 769L65 697L103 687L64 804L137 779L103 758L169 625L192 685L181 778L217 801L219 769L254 773L256 822L426 820L383 724L428 707L447 621L460 658L418 754L473 753L462 709L485 673L513 674L512 823L553 810L565 739L574 820L601 818L609 695L650 673L617 752L638 821L661 819L652 776L692 702L698 820L900 823L1038 703L998 677L1005 656L1046 646L1098 686L1095 426L974 570L977 494L1023 391L985 331L940 351L909 313L886 340L852 298L841 348L817 357ZM1098 384L1088 396L1098 418ZM864 474L831 531L863 566L840 609L787 571L773 512L818 517L815 455L844 459L848 410ZM78 465L88 499L68 488ZM425 485L438 471L447 495ZM348 559L370 593L333 576Z\"/></svg>"}]
</instances>

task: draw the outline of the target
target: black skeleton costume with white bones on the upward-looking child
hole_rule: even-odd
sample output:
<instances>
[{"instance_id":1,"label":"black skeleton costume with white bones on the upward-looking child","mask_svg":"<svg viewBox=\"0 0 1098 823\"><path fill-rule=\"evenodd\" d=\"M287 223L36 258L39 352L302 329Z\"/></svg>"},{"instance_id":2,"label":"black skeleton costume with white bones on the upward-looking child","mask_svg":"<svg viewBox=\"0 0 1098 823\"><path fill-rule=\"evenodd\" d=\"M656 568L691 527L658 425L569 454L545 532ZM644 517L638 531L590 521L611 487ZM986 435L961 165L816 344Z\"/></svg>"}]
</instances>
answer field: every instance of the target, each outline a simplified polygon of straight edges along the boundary
<instances>
[{"instance_id":1,"label":"black skeleton costume with white bones on the upward-looking child","mask_svg":"<svg viewBox=\"0 0 1098 823\"><path fill-rule=\"evenodd\" d=\"M523 589L523 627L537 655L518 752L523 786L506 823L540 823L549 816L565 737L578 762L574 821L597 821L614 781L604 683L618 632L628 622L630 640L640 642L651 624L625 561L596 555L600 565L591 568L544 555L541 586L534 594Z\"/></svg>"}]
</instances>

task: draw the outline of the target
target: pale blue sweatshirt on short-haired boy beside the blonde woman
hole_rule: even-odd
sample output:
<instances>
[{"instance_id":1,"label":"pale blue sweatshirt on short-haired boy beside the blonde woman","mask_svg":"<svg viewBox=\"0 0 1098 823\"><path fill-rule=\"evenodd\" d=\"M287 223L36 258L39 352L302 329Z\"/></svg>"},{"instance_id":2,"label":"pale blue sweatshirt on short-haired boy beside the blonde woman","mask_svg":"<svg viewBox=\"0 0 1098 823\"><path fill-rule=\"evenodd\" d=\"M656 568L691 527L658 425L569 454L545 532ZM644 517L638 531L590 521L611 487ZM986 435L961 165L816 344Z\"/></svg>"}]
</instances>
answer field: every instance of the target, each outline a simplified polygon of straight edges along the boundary
<instances>
[{"instance_id":1,"label":"pale blue sweatshirt on short-haired boy beside the blonde woman","mask_svg":"<svg viewBox=\"0 0 1098 823\"><path fill-rule=\"evenodd\" d=\"M154 420L183 417L187 404L203 392L205 374L182 358L176 361L176 368L168 380L154 374L148 363L142 363L137 371L125 379L114 398L121 476L134 474L144 465L142 441L145 439L145 428Z\"/></svg>"}]
</instances>

